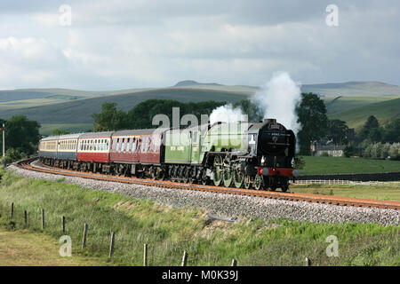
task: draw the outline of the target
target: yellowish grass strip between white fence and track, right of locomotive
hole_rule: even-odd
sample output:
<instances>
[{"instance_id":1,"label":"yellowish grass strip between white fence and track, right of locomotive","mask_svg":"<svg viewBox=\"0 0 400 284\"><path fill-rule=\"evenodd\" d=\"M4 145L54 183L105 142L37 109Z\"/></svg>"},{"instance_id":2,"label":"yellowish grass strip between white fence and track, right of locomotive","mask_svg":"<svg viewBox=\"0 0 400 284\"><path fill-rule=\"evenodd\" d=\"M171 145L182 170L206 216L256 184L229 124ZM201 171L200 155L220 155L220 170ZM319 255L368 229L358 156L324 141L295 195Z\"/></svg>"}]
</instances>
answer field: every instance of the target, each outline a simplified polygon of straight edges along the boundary
<instances>
[{"instance_id":1,"label":"yellowish grass strip between white fence and track, right of locomotive","mask_svg":"<svg viewBox=\"0 0 400 284\"><path fill-rule=\"evenodd\" d=\"M300 185L290 186L292 193L312 193L384 201L400 201L400 185Z\"/></svg>"}]
</instances>

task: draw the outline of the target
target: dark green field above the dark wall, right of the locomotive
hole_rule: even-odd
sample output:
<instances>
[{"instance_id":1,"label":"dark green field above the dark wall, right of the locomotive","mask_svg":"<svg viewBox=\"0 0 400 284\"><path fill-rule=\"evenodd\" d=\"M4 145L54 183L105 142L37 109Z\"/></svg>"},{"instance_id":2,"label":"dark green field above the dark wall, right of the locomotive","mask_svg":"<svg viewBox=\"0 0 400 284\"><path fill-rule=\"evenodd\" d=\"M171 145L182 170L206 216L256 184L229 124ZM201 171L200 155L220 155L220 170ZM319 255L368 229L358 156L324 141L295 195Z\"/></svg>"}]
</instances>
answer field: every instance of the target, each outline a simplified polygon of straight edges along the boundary
<instances>
[{"instance_id":1,"label":"dark green field above the dark wall, right of the locomotive","mask_svg":"<svg viewBox=\"0 0 400 284\"><path fill-rule=\"evenodd\" d=\"M358 174L400 171L399 161L345 157L302 156L306 166L300 175Z\"/></svg>"}]
</instances>

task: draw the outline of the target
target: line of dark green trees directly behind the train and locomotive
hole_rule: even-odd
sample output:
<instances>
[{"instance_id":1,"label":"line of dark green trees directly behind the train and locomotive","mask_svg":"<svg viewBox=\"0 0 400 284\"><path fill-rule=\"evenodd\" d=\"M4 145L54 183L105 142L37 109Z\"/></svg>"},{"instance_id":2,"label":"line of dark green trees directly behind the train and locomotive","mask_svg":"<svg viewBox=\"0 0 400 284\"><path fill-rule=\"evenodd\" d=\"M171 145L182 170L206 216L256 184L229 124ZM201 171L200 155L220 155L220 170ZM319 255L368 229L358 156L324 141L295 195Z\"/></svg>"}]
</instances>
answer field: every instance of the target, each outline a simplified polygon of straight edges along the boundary
<instances>
[{"instance_id":1,"label":"line of dark green trees directly behind the train and locomotive","mask_svg":"<svg viewBox=\"0 0 400 284\"><path fill-rule=\"evenodd\" d=\"M302 93L302 100L296 111L299 116L299 122L302 125L298 133L300 142L300 154L310 153L311 141L324 138L328 119L326 116L326 107L324 101L313 93ZM198 103L182 103L171 99L148 99L134 106L132 110L125 113L116 108L116 103L106 102L101 106L100 113L92 114L94 120L94 131L106 130L124 130L124 129L144 129L154 128L152 119L156 114L166 114L172 121L172 107L180 107L180 115L195 114L200 122L201 114L212 113L212 110L218 106L224 106L227 102L203 101ZM250 122L258 122L263 118L258 106L249 99L242 99L234 104L234 107L240 107L244 114L248 115ZM340 123L333 124L340 128ZM335 133L335 130L332 130ZM337 134L334 134L337 136ZM336 138L335 136L335 138Z\"/></svg>"}]
</instances>

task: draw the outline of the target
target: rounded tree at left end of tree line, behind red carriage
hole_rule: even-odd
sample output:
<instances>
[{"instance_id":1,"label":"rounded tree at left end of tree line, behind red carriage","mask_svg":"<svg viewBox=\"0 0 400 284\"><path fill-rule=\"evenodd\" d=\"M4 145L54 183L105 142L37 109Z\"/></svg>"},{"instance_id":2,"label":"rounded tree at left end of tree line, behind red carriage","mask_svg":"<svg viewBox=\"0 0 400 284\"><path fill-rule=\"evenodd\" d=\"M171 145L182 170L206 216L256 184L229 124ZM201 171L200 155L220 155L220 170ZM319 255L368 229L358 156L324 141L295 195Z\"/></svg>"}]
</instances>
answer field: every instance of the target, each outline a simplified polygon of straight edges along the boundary
<instances>
[{"instance_id":1,"label":"rounded tree at left end of tree line, behind red carriage","mask_svg":"<svg viewBox=\"0 0 400 284\"><path fill-rule=\"evenodd\" d=\"M92 114L94 132L124 130L128 128L128 117L123 110L116 109L116 103L105 102L100 114Z\"/></svg>"}]
</instances>

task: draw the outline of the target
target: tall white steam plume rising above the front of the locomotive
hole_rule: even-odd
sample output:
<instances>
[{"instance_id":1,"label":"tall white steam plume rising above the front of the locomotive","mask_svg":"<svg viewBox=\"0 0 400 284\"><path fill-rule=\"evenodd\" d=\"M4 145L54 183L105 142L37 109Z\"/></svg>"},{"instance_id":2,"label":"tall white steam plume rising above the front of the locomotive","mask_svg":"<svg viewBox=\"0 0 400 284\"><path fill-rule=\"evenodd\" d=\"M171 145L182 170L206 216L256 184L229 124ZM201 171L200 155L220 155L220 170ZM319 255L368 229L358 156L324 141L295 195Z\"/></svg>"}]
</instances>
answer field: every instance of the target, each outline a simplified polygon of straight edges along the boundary
<instances>
[{"instance_id":1,"label":"tall white steam plume rising above the front of the locomotive","mask_svg":"<svg viewBox=\"0 0 400 284\"><path fill-rule=\"evenodd\" d=\"M275 118L286 129L293 130L295 135L301 130L296 114L296 106L301 100L300 83L295 83L286 72L275 73L253 99L264 118Z\"/></svg>"}]
</instances>

